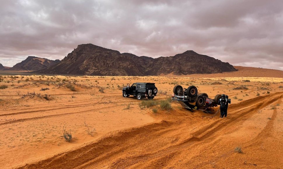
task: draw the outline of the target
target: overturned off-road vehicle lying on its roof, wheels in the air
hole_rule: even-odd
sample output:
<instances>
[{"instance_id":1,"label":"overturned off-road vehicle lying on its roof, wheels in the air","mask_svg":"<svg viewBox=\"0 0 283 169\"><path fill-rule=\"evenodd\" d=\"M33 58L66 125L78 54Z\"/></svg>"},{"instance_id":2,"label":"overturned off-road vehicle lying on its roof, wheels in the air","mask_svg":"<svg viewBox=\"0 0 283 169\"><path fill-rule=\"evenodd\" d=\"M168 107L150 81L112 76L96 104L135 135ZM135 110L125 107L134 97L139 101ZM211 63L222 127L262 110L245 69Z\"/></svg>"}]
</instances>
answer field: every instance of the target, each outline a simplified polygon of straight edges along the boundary
<instances>
[{"instance_id":1,"label":"overturned off-road vehicle lying on its roof, wheels in the air","mask_svg":"<svg viewBox=\"0 0 283 169\"><path fill-rule=\"evenodd\" d=\"M221 94L217 94L211 99L206 93L198 94L198 89L195 86L183 88L181 85L176 85L173 92L172 100L178 101L183 108L191 111L201 110L212 113L213 111L210 108L220 105Z\"/></svg>"}]
</instances>

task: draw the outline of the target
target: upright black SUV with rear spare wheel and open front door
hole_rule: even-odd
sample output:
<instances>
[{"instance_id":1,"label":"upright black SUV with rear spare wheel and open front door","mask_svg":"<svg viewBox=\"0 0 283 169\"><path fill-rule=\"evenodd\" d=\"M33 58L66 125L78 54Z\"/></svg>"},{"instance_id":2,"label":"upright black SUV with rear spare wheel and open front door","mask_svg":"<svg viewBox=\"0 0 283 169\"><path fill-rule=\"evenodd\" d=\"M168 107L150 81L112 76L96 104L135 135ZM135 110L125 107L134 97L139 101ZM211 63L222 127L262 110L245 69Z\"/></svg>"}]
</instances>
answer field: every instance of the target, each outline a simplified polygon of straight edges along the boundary
<instances>
[{"instance_id":1,"label":"upright black SUV with rear spare wheel and open front door","mask_svg":"<svg viewBox=\"0 0 283 169\"><path fill-rule=\"evenodd\" d=\"M130 95L137 96L138 100L142 100L144 97L148 99L153 99L157 94L157 88L155 83L134 83L130 87L123 87L123 97L129 97Z\"/></svg>"}]
</instances>

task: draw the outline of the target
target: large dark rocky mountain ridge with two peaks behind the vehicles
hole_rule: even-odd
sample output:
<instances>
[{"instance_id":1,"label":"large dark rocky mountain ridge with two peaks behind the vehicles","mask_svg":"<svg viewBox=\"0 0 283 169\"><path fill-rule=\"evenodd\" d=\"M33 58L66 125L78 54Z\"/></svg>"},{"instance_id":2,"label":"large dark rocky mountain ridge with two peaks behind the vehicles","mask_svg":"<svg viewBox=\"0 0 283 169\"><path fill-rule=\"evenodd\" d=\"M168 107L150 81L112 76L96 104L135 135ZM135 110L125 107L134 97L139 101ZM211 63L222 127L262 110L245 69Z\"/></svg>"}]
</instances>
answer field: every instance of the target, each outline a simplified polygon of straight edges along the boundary
<instances>
[{"instance_id":1,"label":"large dark rocky mountain ridge with two peaks behind the vehicles","mask_svg":"<svg viewBox=\"0 0 283 169\"><path fill-rule=\"evenodd\" d=\"M62 61L36 73L73 75L187 75L237 71L229 63L188 50L170 57L138 57L92 44L82 44Z\"/></svg>"}]
</instances>

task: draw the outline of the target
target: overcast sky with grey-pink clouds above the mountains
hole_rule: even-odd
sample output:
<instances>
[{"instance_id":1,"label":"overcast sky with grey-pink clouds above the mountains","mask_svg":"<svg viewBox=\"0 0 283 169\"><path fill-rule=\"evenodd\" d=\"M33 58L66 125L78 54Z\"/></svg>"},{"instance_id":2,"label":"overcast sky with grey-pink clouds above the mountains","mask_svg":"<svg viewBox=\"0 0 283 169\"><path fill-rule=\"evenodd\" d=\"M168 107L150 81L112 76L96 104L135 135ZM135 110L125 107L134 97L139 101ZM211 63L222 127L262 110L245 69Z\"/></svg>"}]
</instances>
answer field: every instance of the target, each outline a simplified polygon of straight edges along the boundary
<instances>
[{"instance_id":1,"label":"overcast sky with grey-pink clouds above the mountains","mask_svg":"<svg viewBox=\"0 0 283 169\"><path fill-rule=\"evenodd\" d=\"M137 56L194 50L283 70L282 0L0 0L0 63L63 59L79 44Z\"/></svg>"}]
</instances>

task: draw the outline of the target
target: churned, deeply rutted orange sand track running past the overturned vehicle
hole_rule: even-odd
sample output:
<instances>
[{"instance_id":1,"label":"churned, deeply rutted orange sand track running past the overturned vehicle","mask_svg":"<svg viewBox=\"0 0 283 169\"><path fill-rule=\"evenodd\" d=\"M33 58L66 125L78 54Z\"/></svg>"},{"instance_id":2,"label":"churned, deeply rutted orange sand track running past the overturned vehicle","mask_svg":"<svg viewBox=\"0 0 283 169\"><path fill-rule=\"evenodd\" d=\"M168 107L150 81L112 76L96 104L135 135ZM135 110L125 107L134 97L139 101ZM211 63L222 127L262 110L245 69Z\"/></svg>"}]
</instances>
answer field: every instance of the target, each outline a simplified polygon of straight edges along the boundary
<instances>
[{"instance_id":1,"label":"churned, deeply rutted orange sand track running past the overturned vehicle","mask_svg":"<svg viewBox=\"0 0 283 169\"><path fill-rule=\"evenodd\" d=\"M112 132L86 146L20 168L169 168L178 163L176 159L182 161L184 158L190 163L187 160L178 167L209 167L218 159L224 160L234 154L235 147L221 149L210 159L205 154L207 147L214 147L220 135L235 132L258 110L272 103L281 103L282 94L278 92L231 105L228 118L213 119L205 125L200 125L198 120L201 117L197 115L192 121L182 112L171 112L170 117L164 116L165 120L160 122ZM277 110L274 110L272 119L276 115ZM189 122L190 125L187 125ZM244 142L244 147L262 138L273 122L268 121L257 137Z\"/></svg>"}]
</instances>

